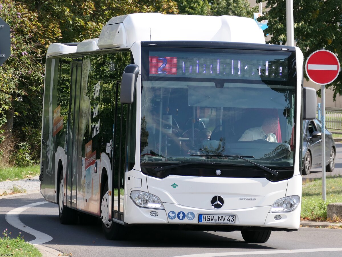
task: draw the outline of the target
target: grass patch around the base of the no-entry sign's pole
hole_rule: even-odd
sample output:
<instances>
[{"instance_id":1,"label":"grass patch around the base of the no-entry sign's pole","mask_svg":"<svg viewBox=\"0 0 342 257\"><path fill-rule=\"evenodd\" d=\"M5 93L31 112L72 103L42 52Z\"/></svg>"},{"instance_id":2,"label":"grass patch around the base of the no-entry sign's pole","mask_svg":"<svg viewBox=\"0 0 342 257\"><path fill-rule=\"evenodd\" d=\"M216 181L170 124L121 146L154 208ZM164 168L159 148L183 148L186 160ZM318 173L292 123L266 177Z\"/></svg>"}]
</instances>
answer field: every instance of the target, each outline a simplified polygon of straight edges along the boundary
<instances>
[{"instance_id":1,"label":"grass patch around the base of the no-entry sign's pole","mask_svg":"<svg viewBox=\"0 0 342 257\"><path fill-rule=\"evenodd\" d=\"M326 203L322 199L322 179L303 181L301 211L303 219L327 220L327 205L331 203L342 203L342 176L326 179Z\"/></svg>"}]
</instances>

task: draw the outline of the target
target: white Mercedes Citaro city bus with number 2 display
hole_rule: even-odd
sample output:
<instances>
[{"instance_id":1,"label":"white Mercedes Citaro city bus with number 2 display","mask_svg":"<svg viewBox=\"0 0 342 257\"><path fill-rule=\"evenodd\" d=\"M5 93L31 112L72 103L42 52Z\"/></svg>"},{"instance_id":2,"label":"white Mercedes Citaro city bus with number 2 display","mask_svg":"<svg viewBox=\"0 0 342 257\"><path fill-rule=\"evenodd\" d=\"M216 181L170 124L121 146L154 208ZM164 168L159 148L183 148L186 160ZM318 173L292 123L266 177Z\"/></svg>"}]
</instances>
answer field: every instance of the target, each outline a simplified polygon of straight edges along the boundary
<instances>
[{"instance_id":1,"label":"white Mercedes Citaro city bus with number 2 display","mask_svg":"<svg viewBox=\"0 0 342 257\"><path fill-rule=\"evenodd\" d=\"M129 14L52 44L41 194L62 224L100 217L107 239L152 224L253 243L298 230L301 121L316 114L302 68L299 48L233 16Z\"/></svg>"}]
</instances>

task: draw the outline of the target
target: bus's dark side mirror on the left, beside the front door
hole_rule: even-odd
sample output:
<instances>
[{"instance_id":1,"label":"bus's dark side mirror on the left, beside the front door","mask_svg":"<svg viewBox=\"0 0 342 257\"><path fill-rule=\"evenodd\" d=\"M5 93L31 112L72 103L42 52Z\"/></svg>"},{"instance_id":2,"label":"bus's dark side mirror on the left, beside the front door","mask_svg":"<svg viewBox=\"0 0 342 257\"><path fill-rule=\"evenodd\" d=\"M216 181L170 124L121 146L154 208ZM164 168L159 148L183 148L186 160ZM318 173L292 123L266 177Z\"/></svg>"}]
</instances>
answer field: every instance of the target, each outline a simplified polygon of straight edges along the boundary
<instances>
[{"instance_id":1,"label":"bus's dark side mirror on the left, beside the front door","mask_svg":"<svg viewBox=\"0 0 342 257\"><path fill-rule=\"evenodd\" d=\"M134 91L136 87L136 80L139 75L139 66L136 64L129 64L123 70L121 89L120 89L120 102L133 103Z\"/></svg>"}]
</instances>

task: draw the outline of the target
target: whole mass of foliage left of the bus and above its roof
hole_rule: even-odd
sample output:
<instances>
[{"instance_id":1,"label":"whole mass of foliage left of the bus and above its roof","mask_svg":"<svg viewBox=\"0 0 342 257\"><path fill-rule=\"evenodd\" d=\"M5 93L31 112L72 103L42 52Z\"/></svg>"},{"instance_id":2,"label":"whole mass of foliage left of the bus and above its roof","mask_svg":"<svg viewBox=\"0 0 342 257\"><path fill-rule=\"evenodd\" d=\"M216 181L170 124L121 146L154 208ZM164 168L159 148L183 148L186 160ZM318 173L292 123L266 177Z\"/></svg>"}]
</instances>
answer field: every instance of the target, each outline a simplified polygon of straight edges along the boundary
<instances>
[{"instance_id":1,"label":"whole mass of foliage left of the bus and above its roof","mask_svg":"<svg viewBox=\"0 0 342 257\"><path fill-rule=\"evenodd\" d=\"M3 0L0 15L11 28L11 57L0 67L0 162L40 159L45 54L52 42L98 37L113 16L177 13L168 0ZM11 147L9 147L11 145Z\"/></svg>"}]
</instances>

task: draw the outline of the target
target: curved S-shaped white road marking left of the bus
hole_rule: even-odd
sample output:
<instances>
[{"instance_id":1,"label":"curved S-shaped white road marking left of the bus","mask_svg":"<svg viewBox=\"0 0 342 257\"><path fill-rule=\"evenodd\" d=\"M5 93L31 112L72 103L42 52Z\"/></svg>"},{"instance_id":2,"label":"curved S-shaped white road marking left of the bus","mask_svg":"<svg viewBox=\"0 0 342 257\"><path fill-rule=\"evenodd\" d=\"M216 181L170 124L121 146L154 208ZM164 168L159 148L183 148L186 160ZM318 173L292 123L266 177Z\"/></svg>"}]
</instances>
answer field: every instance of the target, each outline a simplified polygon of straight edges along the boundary
<instances>
[{"instance_id":1,"label":"curved S-shaped white road marking left of the bus","mask_svg":"<svg viewBox=\"0 0 342 257\"><path fill-rule=\"evenodd\" d=\"M31 234L31 235L36 237L35 240L32 240L29 243L34 244L34 245L39 245L39 244L43 244L43 243L49 242L49 241L51 241L53 239L51 236L49 236L47 234L44 234L44 233L42 233L42 232L40 232L38 230L32 229L30 227L27 227L19 219L19 214L22 213L23 211L25 211L26 209L35 207L35 206L40 205L40 204L46 204L46 203L48 203L48 202L46 202L46 201L44 201L44 202L37 202L37 203L25 205L23 207L15 208L15 209L13 209L13 210L11 210L11 211L6 213L5 219L13 227L15 227L15 228L17 228L17 229L19 229L21 231L27 232L27 233L29 233L29 234Z\"/></svg>"}]
</instances>

